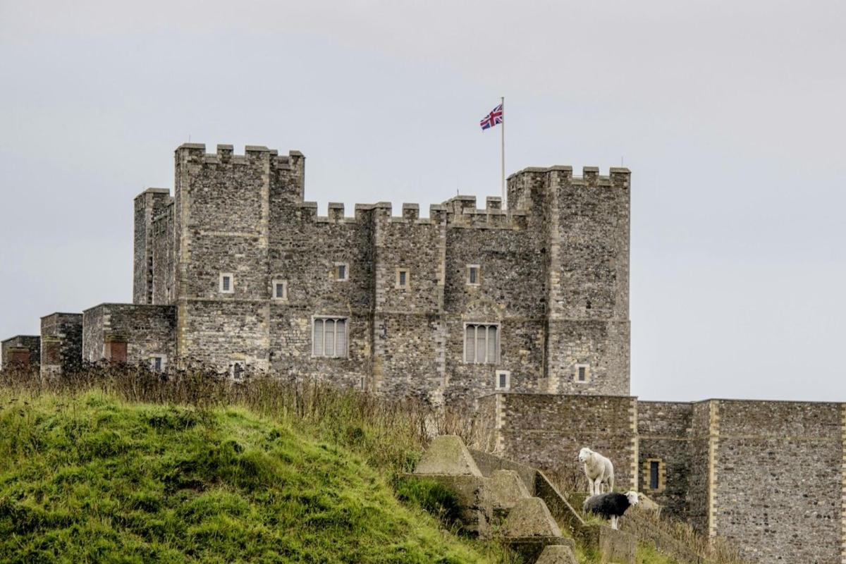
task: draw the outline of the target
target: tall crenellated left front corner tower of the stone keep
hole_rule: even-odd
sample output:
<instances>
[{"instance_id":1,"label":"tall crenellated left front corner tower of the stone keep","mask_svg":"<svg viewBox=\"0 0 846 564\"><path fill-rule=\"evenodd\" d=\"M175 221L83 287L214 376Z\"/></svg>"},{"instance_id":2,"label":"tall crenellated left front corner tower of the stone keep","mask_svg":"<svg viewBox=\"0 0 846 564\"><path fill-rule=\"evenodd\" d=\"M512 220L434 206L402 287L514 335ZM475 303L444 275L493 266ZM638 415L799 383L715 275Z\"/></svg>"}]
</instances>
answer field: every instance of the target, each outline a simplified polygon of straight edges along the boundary
<instances>
[{"instance_id":1,"label":"tall crenellated left front corner tower of the stone keep","mask_svg":"<svg viewBox=\"0 0 846 564\"><path fill-rule=\"evenodd\" d=\"M175 154L176 350L182 363L268 370L271 194L301 199L299 153L184 144Z\"/></svg>"}]
</instances>

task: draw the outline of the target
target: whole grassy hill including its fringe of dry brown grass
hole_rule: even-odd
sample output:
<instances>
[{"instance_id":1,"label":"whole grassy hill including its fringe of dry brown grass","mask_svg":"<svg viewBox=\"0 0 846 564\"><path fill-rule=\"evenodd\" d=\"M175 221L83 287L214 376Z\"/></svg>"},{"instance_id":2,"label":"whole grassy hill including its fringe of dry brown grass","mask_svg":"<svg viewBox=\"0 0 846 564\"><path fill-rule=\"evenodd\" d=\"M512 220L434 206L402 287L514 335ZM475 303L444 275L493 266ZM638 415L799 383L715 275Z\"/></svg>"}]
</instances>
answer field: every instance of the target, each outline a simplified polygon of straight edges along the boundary
<instances>
[{"instance_id":1,"label":"whole grassy hill including its fringe of dry brown grass","mask_svg":"<svg viewBox=\"0 0 846 564\"><path fill-rule=\"evenodd\" d=\"M0 372L0 561L519 564L450 532L451 492L400 478L467 423L269 378ZM673 564L649 545L637 561Z\"/></svg>"}]
</instances>

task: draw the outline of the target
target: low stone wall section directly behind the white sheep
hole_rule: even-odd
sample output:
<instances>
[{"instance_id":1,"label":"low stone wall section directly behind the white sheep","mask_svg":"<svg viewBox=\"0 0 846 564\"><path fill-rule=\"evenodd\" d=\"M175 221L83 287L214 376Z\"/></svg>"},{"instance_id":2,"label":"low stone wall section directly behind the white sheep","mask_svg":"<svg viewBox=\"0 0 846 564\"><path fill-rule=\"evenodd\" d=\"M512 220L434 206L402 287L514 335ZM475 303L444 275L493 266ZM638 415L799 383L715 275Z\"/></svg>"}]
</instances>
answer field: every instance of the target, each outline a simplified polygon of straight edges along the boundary
<instances>
[{"instance_id":1,"label":"low stone wall section directly behind the white sheep","mask_svg":"<svg viewBox=\"0 0 846 564\"><path fill-rule=\"evenodd\" d=\"M588 446L611 458L618 490L637 489L636 398L498 393L482 397L479 405L486 421L495 413L494 443L503 457L552 473L580 474L576 457Z\"/></svg>"}]
</instances>

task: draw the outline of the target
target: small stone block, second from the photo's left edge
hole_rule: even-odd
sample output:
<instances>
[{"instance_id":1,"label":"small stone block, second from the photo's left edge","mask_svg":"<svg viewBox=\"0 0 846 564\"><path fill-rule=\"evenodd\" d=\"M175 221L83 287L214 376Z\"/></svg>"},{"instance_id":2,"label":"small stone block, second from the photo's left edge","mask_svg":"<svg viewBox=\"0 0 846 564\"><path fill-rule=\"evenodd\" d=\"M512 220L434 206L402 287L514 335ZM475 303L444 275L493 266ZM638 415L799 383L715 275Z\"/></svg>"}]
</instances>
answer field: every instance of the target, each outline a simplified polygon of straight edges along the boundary
<instances>
[{"instance_id":1,"label":"small stone block, second from the photo's left edge","mask_svg":"<svg viewBox=\"0 0 846 564\"><path fill-rule=\"evenodd\" d=\"M82 362L82 314L54 313L41 318L41 375L58 376Z\"/></svg>"}]
</instances>

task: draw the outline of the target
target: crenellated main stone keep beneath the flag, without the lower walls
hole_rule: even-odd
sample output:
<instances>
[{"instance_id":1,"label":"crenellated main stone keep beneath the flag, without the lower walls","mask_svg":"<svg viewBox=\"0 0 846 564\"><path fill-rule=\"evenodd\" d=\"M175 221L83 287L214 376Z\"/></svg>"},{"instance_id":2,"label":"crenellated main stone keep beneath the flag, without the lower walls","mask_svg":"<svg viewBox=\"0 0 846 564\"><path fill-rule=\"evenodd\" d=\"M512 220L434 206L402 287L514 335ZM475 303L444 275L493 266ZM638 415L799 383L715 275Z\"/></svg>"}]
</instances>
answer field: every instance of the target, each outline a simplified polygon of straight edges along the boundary
<instances>
[{"instance_id":1,"label":"crenellated main stone keep beneath the flag, without the lower walls","mask_svg":"<svg viewBox=\"0 0 846 564\"><path fill-rule=\"evenodd\" d=\"M135 198L134 301L173 306L177 363L470 405L500 378L520 392L629 393L627 169L530 168L508 179L508 211L457 196L428 218L384 202L316 216L304 187L299 152L187 144L173 198ZM97 315L89 360L109 332ZM327 326L329 355L315 342ZM123 335L128 348L147 340L141 326Z\"/></svg>"}]
</instances>

